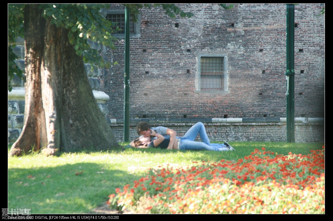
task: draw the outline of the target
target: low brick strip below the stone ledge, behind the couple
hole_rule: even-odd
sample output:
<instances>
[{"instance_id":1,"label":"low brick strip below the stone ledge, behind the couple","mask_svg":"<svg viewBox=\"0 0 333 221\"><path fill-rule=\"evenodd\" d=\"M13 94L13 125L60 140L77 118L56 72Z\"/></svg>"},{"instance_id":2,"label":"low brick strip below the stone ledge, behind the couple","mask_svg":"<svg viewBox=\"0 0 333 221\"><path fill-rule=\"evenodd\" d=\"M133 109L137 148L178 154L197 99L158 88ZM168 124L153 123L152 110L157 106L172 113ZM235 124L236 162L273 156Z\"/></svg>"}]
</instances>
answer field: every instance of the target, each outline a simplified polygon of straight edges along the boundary
<instances>
[{"instance_id":1,"label":"low brick strip below the stone ledge, behind the couple","mask_svg":"<svg viewBox=\"0 0 333 221\"><path fill-rule=\"evenodd\" d=\"M194 123L150 123L152 127L165 126L183 136ZM286 123L204 123L211 141L268 141L286 142ZM139 137L137 124L130 124L130 140ZM119 142L123 141L124 125L111 124ZM295 123L295 143L325 142L323 122Z\"/></svg>"}]
</instances>

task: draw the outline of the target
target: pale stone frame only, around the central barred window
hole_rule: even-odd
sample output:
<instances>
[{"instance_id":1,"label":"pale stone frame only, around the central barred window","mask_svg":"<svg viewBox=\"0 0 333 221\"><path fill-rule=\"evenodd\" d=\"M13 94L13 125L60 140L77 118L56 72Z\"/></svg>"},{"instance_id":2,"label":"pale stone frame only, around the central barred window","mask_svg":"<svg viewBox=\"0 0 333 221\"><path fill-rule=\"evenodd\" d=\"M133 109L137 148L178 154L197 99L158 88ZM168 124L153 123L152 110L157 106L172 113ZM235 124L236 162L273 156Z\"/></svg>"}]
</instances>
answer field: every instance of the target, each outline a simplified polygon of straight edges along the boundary
<instances>
[{"instance_id":1,"label":"pale stone frame only, around the central barred window","mask_svg":"<svg viewBox=\"0 0 333 221\"><path fill-rule=\"evenodd\" d=\"M223 89L221 90L202 90L200 86L200 76L201 76L201 57L223 57L223 71L224 71L224 81L223 81ZM214 93L214 94L221 94L221 93L229 93L228 88L228 56L226 54L220 53L201 53L197 56L197 74L196 74L196 82L195 82L195 92L196 93Z\"/></svg>"}]
</instances>

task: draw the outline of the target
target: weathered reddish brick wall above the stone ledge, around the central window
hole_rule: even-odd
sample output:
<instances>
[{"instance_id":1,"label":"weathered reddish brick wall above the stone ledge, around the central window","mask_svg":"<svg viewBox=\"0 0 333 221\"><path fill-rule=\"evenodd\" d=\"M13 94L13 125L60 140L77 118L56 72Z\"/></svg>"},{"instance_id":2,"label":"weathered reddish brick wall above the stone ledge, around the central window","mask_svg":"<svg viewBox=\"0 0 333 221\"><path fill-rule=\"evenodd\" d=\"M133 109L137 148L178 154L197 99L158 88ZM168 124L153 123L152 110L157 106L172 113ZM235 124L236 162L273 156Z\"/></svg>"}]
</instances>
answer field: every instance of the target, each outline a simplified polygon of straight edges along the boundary
<instances>
[{"instance_id":1,"label":"weathered reddish brick wall above the stone ledge, around the central window","mask_svg":"<svg viewBox=\"0 0 333 221\"><path fill-rule=\"evenodd\" d=\"M141 10L140 37L130 39L130 117L285 117L286 5L179 6L194 16L172 19L161 8ZM324 116L322 7L295 5L295 117ZM105 92L109 117L121 119L125 44L116 46L119 64L105 72ZM227 56L228 93L196 92L202 53Z\"/></svg>"}]
</instances>

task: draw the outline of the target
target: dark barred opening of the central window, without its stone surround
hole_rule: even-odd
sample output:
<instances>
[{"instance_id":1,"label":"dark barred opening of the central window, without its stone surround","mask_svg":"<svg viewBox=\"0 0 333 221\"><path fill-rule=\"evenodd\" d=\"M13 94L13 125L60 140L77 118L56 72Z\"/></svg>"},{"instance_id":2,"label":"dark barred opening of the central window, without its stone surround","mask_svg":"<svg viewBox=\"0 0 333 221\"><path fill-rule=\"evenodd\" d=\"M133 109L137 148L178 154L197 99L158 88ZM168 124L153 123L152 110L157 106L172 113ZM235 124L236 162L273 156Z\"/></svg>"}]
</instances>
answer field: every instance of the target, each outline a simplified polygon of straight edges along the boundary
<instances>
[{"instance_id":1,"label":"dark barred opening of the central window, without its stone surround","mask_svg":"<svg viewBox=\"0 0 333 221\"><path fill-rule=\"evenodd\" d=\"M224 57L200 57L200 90L224 89Z\"/></svg>"}]
</instances>

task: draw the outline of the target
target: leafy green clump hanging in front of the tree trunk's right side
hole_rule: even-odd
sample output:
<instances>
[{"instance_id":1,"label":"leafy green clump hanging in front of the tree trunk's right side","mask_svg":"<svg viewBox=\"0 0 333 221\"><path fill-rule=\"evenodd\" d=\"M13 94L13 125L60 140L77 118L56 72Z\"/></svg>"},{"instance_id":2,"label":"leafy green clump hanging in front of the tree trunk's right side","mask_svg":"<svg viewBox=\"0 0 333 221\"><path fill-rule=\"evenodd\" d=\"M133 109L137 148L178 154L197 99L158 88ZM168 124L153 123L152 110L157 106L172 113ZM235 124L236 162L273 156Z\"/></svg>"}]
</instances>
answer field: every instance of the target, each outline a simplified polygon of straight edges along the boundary
<instances>
[{"instance_id":1,"label":"leafy green clump hanging in front of the tree trunk's right side","mask_svg":"<svg viewBox=\"0 0 333 221\"><path fill-rule=\"evenodd\" d=\"M45 7L44 16L57 27L70 30L68 39L78 56L83 56L84 62L98 64L101 68L110 67L110 63L101 57L97 50L91 49L88 40L114 49L112 23L101 17L99 11L107 7L105 4L53 4Z\"/></svg>"}]
</instances>

